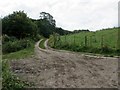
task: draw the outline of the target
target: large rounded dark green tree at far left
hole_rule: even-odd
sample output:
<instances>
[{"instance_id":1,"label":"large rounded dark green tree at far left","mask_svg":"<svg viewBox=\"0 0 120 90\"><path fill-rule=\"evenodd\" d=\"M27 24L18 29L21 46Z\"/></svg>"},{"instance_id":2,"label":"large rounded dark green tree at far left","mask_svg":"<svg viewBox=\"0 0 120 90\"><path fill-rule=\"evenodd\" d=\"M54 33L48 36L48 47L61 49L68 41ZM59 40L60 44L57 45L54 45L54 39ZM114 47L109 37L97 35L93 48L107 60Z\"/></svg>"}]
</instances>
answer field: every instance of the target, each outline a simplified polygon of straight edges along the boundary
<instances>
[{"instance_id":1,"label":"large rounded dark green tree at far left","mask_svg":"<svg viewBox=\"0 0 120 90\"><path fill-rule=\"evenodd\" d=\"M3 34L17 38L34 37L37 34L37 26L24 11L16 11L2 19Z\"/></svg>"}]
</instances>

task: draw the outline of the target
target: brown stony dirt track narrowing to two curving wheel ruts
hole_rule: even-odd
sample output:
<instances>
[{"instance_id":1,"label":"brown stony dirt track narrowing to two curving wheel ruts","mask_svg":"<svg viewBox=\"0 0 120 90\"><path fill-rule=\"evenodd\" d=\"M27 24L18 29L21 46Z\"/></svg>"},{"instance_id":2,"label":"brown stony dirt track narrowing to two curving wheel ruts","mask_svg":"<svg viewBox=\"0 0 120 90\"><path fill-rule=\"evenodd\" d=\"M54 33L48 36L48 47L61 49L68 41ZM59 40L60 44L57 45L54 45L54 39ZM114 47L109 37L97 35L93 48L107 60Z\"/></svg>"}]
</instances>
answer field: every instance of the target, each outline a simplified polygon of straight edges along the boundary
<instances>
[{"instance_id":1,"label":"brown stony dirt track narrowing to two curving wheel ruts","mask_svg":"<svg viewBox=\"0 0 120 90\"><path fill-rule=\"evenodd\" d=\"M40 42L40 41L39 41ZM67 51L43 50L35 45L35 56L13 60L12 71L21 80L39 88L115 88L118 59L95 57Z\"/></svg>"}]
</instances>

